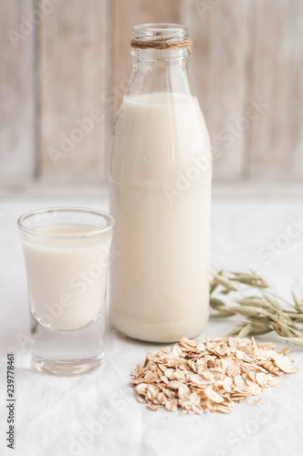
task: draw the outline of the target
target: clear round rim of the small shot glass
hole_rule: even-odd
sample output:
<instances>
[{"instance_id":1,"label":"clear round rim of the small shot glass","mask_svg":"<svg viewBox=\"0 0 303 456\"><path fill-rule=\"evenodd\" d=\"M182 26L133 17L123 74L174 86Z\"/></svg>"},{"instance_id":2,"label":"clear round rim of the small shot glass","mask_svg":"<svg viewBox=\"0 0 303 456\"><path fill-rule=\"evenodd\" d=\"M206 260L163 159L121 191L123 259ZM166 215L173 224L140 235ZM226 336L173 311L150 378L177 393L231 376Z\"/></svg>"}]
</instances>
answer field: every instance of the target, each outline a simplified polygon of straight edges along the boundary
<instances>
[{"instance_id":1,"label":"clear round rim of the small shot glass","mask_svg":"<svg viewBox=\"0 0 303 456\"><path fill-rule=\"evenodd\" d=\"M101 228L96 226L96 230L83 232L83 233L47 233L47 232L40 232L36 228L29 228L24 224L24 222L32 217L38 215L44 215L47 213L55 213L55 212L75 212L75 213L87 213L92 215L97 215L103 220L106 220L107 226ZM79 206L57 206L57 207L47 207L43 209L37 209L35 211L25 212L24 214L20 215L17 219L17 225L21 233L32 234L35 236L43 236L43 237L51 237L51 238L72 238L72 239L79 239L79 238L89 238L98 236L99 234L107 233L113 229L115 224L115 219L110 215L108 212L99 211L98 209L89 209L85 207Z\"/></svg>"}]
</instances>

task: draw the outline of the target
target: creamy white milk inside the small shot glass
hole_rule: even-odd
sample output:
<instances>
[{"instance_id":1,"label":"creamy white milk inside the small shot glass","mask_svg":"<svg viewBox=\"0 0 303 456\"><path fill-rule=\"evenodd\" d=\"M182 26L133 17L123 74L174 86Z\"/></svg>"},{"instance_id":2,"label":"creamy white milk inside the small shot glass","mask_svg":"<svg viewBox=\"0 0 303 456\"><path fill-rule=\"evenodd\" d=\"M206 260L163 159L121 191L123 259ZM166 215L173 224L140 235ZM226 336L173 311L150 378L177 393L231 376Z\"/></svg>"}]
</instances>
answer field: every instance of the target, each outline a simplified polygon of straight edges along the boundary
<instances>
[{"instance_id":1,"label":"creamy white milk inside the small shot glass","mask_svg":"<svg viewBox=\"0 0 303 456\"><path fill-rule=\"evenodd\" d=\"M99 316L106 293L111 233L80 237L98 229L82 223L54 223L37 228L35 236L23 236L29 303L42 324L70 331ZM62 233L66 237L52 236Z\"/></svg>"}]
</instances>

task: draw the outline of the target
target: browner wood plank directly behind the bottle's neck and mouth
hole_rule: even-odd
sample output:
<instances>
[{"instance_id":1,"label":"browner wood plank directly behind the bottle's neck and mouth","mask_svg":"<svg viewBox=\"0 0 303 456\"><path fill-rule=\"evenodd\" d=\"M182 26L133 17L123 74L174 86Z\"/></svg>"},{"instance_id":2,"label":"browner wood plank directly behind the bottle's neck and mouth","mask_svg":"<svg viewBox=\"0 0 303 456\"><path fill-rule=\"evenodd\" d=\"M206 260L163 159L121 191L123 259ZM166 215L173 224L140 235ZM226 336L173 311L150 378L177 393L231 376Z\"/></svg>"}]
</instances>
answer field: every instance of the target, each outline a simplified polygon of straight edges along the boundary
<instances>
[{"instance_id":1,"label":"browner wood plank directly behind the bottle's neck and mouth","mask_svg":"<svg viewBox=\"0 0 303 456\"><path fill-rule=\"evenodd\" d=\"M114 115L120 107L131 76L131 34L133 26L144 23L179 23L181 0L114 0L113 87Z\"/></svg>"}]
</instances>

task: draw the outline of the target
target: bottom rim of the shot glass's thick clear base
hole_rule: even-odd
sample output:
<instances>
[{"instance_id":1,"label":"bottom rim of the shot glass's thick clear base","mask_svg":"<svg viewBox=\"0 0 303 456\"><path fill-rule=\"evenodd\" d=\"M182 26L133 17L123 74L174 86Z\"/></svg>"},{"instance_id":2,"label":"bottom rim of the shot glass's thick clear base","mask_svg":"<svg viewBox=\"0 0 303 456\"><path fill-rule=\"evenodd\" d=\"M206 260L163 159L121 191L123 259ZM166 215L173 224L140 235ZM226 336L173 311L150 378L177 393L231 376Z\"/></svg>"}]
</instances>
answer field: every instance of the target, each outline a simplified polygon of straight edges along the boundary
<instances>
[{"instance_id":1,"label":"bottom rim of the shot glass's thick clear base","mask_svg":"<svg viewBox=\"0 0 303 456\"><path fill-rule=\"evenodd\" d=\"M65 377L89 374L101 366L102 360L103 354L96 358L73 359L72 361L44 359L32 355L32 364L39 372Z\"/></svg>"}]
</instances>

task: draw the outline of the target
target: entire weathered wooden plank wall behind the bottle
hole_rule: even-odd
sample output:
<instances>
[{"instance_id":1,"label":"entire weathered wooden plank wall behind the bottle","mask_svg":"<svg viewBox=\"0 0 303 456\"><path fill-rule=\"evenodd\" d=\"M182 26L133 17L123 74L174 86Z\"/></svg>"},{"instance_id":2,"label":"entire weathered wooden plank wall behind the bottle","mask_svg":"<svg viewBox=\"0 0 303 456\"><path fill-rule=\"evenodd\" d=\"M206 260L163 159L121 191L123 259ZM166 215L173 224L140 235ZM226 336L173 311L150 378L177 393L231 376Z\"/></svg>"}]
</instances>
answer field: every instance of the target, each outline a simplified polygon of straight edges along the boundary
<instances>
[{"instance_id":1,"label":"entire weathered wooden plank wall behind the bottle","mask_svg":"<svg viewBox=\"0 0 303 456\"><path fill-rule=\"evenodd\" d=\"M3 0L0 183L102 181L144 22L189 27L214 181L300 181L302 0Z\"/></svg>"}]
</instances>

